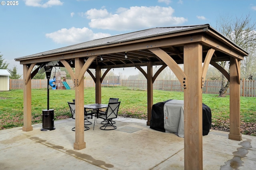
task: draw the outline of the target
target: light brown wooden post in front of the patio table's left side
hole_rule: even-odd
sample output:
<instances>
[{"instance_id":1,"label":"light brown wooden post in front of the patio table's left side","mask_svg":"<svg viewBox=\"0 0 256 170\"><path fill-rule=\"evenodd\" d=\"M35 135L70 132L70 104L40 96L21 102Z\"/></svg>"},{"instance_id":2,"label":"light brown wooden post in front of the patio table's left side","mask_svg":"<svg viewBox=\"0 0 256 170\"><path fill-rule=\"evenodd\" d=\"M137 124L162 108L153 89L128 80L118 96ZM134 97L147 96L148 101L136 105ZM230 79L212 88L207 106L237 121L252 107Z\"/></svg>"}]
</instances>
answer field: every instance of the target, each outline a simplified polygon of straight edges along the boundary
<instances>
[{"instance_id":1,"label":"light brown wooden post in front of the patio table's left side","mask_svg":"<svg viewBox=\"0 0 256 170\"><path fill-rule=\"evenodd\" d=\"M84 65L84 60L76 58L75 59L75 76L78 77L82 67ZM84 142L84 81L81 81L79 85L75 86L75 142L74 149L81 150L86 147L86 143Z\"/></svg>"}]
</instances>

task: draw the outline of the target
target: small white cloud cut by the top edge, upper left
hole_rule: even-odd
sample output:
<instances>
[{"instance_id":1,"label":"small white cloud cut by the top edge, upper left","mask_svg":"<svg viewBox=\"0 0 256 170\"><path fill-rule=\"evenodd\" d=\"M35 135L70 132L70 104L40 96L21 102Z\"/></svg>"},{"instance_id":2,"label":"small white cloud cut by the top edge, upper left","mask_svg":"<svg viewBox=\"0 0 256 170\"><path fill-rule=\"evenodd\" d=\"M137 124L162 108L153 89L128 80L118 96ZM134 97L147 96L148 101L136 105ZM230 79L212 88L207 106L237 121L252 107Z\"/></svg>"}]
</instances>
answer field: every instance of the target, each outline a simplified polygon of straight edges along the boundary
<instances>
[{"instance_id":1,"label":"small white cloud cut by the top edge, upper left","mask_svg":"<svg viewBox=\"0 0 256 170\"><path fill-rule=\"evenodd\" d=\"M60 0L48 0L47 2L43 3L42 0L24 0L26 6L34 6L34 7L42 7L42 8L48 8L55 5L62 5L63 2L60 2Z\"/></svg>"}]
</instances>

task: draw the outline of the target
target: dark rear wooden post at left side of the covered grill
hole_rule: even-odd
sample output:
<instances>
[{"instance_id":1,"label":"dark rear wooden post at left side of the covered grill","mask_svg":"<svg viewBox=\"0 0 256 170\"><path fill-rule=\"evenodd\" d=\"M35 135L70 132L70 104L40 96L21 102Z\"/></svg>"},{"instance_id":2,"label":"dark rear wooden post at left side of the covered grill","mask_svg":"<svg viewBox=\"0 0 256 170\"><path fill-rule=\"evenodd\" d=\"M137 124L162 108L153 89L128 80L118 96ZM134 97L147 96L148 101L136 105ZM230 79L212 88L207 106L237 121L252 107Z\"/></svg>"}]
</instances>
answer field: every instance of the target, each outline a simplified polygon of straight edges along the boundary
<instances>
[{"instance_id":1,"label":"dark rear wooden post at left side of the covered grill","mask_svg":"<svg viewBox=\"0 0 256 170\"><path fill-rule=\"evenodd\" d=\"M153 106L153 68L152 62L148 62L147 66L147 82L148 82L148 121L147 125L150 126L151 110Z\"/></svg>"}]
</instances>

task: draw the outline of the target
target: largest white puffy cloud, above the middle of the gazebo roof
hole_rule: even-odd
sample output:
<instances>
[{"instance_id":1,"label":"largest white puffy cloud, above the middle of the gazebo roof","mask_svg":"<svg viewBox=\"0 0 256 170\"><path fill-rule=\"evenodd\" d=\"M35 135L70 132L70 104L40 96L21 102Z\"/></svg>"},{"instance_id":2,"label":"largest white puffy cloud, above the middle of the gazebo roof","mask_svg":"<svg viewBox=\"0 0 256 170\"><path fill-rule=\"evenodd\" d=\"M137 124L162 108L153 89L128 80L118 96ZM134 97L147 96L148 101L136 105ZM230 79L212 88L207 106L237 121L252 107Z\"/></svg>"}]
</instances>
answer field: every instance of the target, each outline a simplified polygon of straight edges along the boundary
<instances>
[{"instance_id":1,"label":"largest white puffy cloud, above the middle of the gazebo roof","mask_svg":"<svg viewBox=\"0 0 256 170\"><path fill-rule=\"evenodd\" d=\"M106 9L91 9L85 15L91 20L91 28L108 30L137 30L161 26L180 25L188 21L183 17L173 16L174 9L160 6L133 6L129 9L118 8L116 14Z\"/></svg>"}]
</instances>

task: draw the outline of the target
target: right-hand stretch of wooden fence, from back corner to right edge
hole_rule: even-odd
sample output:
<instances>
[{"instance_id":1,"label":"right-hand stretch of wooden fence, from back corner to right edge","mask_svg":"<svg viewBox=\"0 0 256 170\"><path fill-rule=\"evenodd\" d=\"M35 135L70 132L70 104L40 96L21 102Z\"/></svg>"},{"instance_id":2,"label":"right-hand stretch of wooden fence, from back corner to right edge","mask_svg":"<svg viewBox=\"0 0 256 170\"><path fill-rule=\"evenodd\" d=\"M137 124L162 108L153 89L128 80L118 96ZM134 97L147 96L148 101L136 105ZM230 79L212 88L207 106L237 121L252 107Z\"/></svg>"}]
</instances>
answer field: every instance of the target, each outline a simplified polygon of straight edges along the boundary
<instances>
[{"instance_id":1,"label":"right-hand stretch of wooden fence, from back corner to right edge","mask_svg":"<svg viewBox=\"0 0 256 170\"><path fill-rule=\"evenodd\" d=\"M227 83L227 81L225 83ZM140 89L140 90L147 89L146 80L122 80L121 85L131 89ZM221 81L207 80L204 82L203 93L219 95L220 88L221 88ZM178 80L156 80L154 81L153 89L184 92L184 88L180 85L180 82ZM229 95L229 89L227 90L227 95ZM256 97L256 81L241 80L240 96Z\"/></svg>"}]
</instances>

